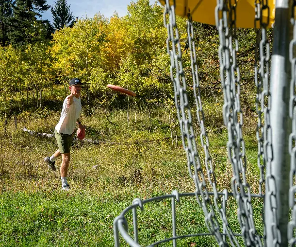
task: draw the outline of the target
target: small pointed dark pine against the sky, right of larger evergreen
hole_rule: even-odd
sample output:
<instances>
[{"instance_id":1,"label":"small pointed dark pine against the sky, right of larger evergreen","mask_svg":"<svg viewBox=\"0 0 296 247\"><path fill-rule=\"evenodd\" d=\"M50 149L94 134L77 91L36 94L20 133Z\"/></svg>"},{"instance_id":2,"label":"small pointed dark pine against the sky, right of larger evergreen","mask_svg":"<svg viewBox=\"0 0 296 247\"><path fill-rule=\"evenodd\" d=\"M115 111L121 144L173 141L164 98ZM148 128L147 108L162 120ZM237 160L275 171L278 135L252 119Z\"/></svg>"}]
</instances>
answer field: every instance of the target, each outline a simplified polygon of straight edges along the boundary
<instances>
[{"instance_id":1,"label":"small pointed dark pine against the sky, right of larger evergreen","mask_svg":"<svg viewBox=\"0 0 296 247\"><path fill-rule=\"evenodd\" d=\"M75 18L70 12L70 6L67 5L66 0L57 0L54 8L51 7L51 13L53 17L53 25L56 29L63 27L72 27Z\"/></svg>"}]
</instances>

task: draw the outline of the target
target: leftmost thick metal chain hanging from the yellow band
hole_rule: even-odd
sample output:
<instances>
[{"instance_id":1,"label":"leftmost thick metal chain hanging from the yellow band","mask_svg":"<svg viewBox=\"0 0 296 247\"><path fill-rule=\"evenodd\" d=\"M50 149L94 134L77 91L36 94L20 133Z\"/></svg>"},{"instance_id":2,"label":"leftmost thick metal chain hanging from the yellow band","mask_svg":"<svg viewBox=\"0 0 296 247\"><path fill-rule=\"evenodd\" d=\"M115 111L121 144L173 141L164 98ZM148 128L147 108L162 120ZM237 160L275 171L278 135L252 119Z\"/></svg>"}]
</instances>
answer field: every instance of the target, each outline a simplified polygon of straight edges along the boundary
<instances>
[{"instance_id":1,"label":"leftmost thick metal chain hanging from the yellow band","mask_svg":"<svg viewBox=\"0 0 296 247\"><path fill-rule=\"evenodd\" d=\"M194 180L197 202L203 209L207 228L215 236L219 246L228 246L223 240L220 232L219 222L214 213L214 208L208 194L204 173L197 153L197 144L192 126L192 116L186 92L186 80L181 61L181 45L176 24L175 1L173 4L170 4L169 0L166 0L164 8L164 26L167 28L168 34L168 38L166 39L167 53L170 54L171 61L170 75L174 84L175 105L181 128L182 144L186 151L189 174ZM169 14L169 23L167 23L166 20L167 14ZM208 141L206 141L206 145L208 145ZM199 198L199 196L201 198Z\"/></svg>"}]
</instances>

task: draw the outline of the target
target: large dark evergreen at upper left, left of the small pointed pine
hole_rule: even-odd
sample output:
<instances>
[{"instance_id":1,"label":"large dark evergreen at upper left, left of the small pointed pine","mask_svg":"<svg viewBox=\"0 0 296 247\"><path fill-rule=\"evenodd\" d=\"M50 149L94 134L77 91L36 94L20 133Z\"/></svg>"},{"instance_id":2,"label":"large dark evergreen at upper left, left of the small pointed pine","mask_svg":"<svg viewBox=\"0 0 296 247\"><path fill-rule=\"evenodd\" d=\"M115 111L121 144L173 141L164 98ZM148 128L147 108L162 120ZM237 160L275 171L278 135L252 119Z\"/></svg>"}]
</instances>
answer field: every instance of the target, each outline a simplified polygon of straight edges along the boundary
<instances>
[{"instance_id":1,"label":"large dark evergreen at upper left, left of the small pointed pine","mask_svg":"<svg viewBox=\"0 0 296 247\"><path fill-rule=\"evenodd\" d=\"M36 41L38 30L44 20L37 20L42 17L41 13L49 9L46 0L16 0L13 6L12 27L9 32L9 39L13 46L21 48L25 44ZM37 24L36 24L37 23ZM48 24L44 24L45 28ZM37 28L37 30L36 30Z\"/></svg>"}]
</instances>

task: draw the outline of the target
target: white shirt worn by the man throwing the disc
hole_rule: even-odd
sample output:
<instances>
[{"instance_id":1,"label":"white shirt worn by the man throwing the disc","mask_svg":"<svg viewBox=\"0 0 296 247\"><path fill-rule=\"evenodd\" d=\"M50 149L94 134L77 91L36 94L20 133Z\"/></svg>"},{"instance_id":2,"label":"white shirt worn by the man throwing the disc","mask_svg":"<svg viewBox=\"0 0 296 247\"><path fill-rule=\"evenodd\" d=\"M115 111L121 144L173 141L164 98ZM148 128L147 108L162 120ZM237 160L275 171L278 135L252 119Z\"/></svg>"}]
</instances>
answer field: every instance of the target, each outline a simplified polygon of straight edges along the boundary
<instances>
[{"instance_id":1,"label":"white shirt worn by the man throwing the disc","mask_svg":"<svg viewBox=\"0 0 296 247\"><path fill-rule=\"evenodd\" d=\"M76 127L76 121L81 113L80 98L73 97L73 104L67 107L67 99L64 100L63 109L59 123L55 126L58 133L71 135Z\"/></svg>"}]
</instances>

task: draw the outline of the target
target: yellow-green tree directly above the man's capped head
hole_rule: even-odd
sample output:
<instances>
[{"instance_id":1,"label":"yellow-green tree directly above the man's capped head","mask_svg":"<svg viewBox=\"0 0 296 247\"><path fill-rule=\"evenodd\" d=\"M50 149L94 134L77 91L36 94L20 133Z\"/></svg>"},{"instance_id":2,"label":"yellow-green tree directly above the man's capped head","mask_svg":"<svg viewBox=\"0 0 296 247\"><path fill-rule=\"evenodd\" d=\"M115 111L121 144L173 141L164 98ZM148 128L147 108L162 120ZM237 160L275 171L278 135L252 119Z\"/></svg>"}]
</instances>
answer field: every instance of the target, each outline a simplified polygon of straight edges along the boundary
<instances>
[{"instance_id":1,"label":"yellow-green tree directly above the man's capped head","mask_svg":"<svg viewBox=\"0 0 296 247\"><path fill-rule=\"evenodd\" d=\"M102 15L78 20L53 34L52 54L59 78L79 77L89 81L91 70L99 64L100 48L105 42L107 19Z\"/></svg>"}]
</instances>

